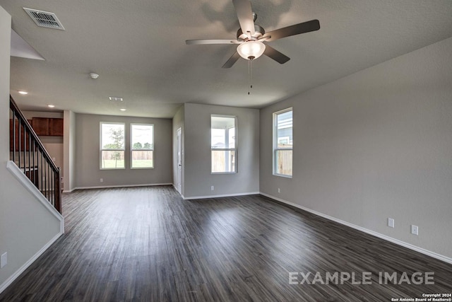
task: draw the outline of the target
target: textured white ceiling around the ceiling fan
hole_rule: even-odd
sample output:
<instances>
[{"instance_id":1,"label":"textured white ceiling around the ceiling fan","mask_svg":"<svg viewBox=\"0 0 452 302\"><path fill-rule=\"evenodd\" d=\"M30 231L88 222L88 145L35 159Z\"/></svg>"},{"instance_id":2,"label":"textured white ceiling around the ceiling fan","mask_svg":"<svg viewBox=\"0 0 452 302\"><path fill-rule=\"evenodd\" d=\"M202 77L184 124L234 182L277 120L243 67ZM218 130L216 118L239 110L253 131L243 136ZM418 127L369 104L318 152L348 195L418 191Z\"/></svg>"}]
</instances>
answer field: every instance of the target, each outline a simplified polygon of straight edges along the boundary
<instances>
[{"instance_id":1,"label":"textured white ceiling around the ceiling fan","mask_svg":"<svg viewBox=\"0 0 452 302\"><path fill-rule=\"evenodd\" d=\"M186 102L261 108L452 36L451 0L251 5L266 31L311 19L321 29L269 42L291 59L283 65L256 59L248 95L247 62L221 68L234 45L185 45L235 38L231 0L0 0L13 30L45 59L11 57L11 95L23 110L48 110L52 103L55 110L142 117L172 117ZM23 7L56 13L66 30L37 27Z\"/></svg>"}]
</instances>

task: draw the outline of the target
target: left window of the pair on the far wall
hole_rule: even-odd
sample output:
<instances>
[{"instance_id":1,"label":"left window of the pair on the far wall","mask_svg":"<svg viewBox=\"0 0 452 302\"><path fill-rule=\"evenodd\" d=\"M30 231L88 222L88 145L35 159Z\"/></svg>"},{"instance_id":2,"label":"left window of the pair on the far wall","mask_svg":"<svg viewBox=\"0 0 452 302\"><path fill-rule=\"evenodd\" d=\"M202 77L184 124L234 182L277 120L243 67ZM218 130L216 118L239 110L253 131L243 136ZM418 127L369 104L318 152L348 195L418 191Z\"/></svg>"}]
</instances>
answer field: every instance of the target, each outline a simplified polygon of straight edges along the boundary
<instances>
[{"instance_id":1,"label":"left window of the pair on the far wall","mask_svg":"<svg viewBox=\"0 0 452 302\"><path fill-rule=\"evenodd\" d=\"M100 123L100 168L124 169L124 124Z\"/></svg>"}]
</instances>

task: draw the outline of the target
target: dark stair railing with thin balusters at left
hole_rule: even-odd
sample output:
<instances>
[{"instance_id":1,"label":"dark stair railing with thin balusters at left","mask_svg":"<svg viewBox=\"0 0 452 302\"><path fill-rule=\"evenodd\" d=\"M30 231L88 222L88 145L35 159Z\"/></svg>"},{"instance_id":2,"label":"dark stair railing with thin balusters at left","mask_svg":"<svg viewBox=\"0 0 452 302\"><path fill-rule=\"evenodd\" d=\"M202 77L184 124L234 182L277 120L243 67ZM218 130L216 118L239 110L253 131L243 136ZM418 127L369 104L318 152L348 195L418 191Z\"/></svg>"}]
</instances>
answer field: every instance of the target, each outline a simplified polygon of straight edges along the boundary
<instances>
[{"instance_id":1,"label":"dark stair railing with thin balusters at left","mask_svg":"<svg viewBox=\"0 0 452 302\"><path fill-rule=\"evenodd\" d=\"M9 96L10 160L40 190L52 206L61 213L59 168L55 165L39 137Z\"/></svg>"}]
</instances>

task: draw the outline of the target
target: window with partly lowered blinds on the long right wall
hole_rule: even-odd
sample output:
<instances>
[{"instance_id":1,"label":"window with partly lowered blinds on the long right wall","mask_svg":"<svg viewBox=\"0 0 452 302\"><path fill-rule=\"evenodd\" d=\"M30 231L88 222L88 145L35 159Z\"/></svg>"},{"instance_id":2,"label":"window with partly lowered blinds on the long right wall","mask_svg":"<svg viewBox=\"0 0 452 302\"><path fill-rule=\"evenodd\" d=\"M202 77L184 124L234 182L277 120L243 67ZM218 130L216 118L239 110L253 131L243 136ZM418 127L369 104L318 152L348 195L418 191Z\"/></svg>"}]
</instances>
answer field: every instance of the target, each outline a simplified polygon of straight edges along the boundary
<instances>
[{"instance_id":1,"label":"window with partly lowered blinds on the long right wall","mask_svg":"<svg viewBox=\"0 0 452 302\"><path fill-rule=\"evenodd\" d=\"M273 175L292 177L292 108L273 113Z\"/></svg>"}]
</instances>

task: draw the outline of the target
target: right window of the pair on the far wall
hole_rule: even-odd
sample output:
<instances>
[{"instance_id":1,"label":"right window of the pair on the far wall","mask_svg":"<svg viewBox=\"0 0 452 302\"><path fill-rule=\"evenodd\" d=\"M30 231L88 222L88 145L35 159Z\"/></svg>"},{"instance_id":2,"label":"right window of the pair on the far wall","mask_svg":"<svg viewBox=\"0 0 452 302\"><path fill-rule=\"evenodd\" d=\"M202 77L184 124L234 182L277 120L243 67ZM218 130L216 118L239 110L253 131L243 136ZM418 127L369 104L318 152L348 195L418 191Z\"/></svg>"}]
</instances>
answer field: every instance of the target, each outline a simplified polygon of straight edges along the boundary
<instances>
[{"instance_id":1,"label":"right window of the pair on the far wall","mask_svg":"<svg viewBox=\"0 0 452 302\"><path fill-rule=\"evenodd\" d=\"M131 124L131 168L154 168L153 124Z\"/></svg>"}]
</instances>

